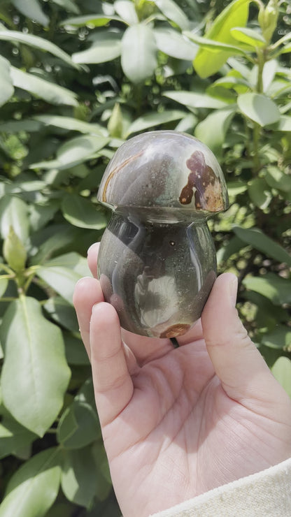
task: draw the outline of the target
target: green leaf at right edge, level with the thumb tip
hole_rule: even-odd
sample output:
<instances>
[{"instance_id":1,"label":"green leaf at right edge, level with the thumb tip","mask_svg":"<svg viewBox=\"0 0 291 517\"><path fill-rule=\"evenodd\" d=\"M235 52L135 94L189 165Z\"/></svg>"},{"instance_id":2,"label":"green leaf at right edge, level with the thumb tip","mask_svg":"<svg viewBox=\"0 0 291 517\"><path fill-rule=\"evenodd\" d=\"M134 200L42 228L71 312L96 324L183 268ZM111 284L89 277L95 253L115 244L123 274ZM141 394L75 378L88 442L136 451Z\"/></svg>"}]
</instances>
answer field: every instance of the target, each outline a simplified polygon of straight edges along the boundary
<instances>
[{"instance_id":1,"label":"green leaf at right edge, level with the thumb tip","mask_svg":"<svg viewBox=\"0 0 291 517\"><path fill-rule=\"evenodd\" d=\"M267 273L264 277L246 277L243 285L256 293L269 298L274 305L291 303L291 282L274 273Z\"/></svg>"}]
</instances>

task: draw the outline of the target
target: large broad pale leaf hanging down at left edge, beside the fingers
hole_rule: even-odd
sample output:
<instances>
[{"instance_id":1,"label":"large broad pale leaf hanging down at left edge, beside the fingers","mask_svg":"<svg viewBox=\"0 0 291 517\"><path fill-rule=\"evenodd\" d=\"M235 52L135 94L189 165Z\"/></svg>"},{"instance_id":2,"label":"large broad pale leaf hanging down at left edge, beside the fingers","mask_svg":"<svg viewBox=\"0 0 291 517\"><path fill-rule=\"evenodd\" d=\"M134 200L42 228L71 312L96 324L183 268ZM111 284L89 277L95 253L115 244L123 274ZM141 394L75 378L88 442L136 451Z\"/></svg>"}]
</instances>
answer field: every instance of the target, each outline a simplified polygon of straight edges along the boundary
<instances>
[{"instance_id":1,"label":"large broad pale leaf hanging down at left edge, beside the fingers","mask_svg":"<svg viewBox=\"0 0 291 517\"><path fill-rule=\"evenodd\" d=\"M63 405L70 378L62 333L43 317L37 300L21 296L3 317L1 343L4 405L15 420L43 436ZM17 390L11 379L17 379Z\"/></svg>"}]
</instances>

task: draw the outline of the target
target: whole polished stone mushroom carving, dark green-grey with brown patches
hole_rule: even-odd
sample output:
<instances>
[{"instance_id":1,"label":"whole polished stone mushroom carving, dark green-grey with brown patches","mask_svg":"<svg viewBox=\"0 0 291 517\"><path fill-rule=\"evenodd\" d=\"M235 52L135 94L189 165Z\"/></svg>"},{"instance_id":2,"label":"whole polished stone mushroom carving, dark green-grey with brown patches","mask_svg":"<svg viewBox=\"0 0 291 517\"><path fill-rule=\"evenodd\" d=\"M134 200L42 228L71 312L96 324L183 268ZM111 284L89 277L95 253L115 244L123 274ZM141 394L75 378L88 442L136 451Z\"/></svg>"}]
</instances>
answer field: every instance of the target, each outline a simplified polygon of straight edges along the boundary
<instances>
[{"instance_id":1,"label":"whole polished stone mushroom carving, dark green-grey with brown patches","mask_svg":"<svg viewBox=\"0 0 291 517\"><path fill-rule=\"evenodd\" d=\"M98 200L113 212L98 276L121 326L150 337L183 335L216 276L206 221L228 206L214 154L178 131L135 136L108 163Z\"/></svg>"}]
</instances>

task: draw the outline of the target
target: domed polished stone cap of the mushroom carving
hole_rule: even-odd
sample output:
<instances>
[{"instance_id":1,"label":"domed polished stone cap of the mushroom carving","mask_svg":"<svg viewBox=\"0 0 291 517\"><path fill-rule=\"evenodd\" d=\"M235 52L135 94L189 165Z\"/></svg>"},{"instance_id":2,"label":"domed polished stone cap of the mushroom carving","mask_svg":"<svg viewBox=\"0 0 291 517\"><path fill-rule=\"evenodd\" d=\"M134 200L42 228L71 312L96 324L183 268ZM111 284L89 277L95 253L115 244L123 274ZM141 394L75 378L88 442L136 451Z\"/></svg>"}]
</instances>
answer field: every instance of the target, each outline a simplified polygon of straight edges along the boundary
<instances>
[{"instance_id":1,"label":"domed polished stone cap of the mushroom carving","mask_svg":"<svg viewBox=\"0 0 291 517\"><path fill-rule=\"evenodd\" d=\"M225 177L213 152L179 131L150 131L122 144L97 199L113 210L166 208L205 217L228 207Z\"/></svg>"}]
</instances>

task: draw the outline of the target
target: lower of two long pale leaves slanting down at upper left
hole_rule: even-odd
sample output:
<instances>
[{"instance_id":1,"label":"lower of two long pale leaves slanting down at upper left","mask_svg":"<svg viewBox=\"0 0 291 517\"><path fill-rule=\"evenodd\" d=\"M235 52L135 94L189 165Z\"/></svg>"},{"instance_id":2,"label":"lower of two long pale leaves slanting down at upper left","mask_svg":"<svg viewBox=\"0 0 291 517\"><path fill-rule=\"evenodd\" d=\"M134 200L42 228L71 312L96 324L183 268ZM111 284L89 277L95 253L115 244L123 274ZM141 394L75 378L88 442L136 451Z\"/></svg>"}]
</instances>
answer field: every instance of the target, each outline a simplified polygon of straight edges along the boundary
<instances>
[{"instance_id":1,"label":"lower of two long pale leaves slanting down at upper left","mask_svg":"<svg viewBox=\"0 0 291 517\"><path fill-rule=\"evenodd\" d=\"M24 89L32 95L44 99L52 104L65 104L76 106L76 94L62 86L55 85L53 82L46 81L42 78L36 77L31 73L23 72L19 68L11 66L11 78L13 85Z\"/></svg>"}]
</instances>

